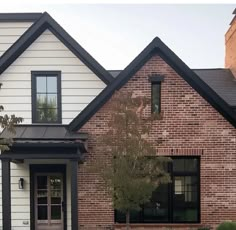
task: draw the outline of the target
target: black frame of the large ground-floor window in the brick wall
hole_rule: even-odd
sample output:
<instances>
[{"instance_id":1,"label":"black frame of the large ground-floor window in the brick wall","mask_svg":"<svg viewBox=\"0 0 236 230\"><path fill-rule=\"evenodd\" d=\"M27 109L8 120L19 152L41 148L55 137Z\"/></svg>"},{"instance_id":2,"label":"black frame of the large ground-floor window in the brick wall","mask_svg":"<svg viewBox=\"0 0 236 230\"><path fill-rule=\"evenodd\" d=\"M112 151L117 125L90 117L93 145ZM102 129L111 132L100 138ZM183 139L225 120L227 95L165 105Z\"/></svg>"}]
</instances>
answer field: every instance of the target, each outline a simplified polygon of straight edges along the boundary
<instances>
[{"instance_id":1,"label":"black frame of the large ground-floor window in the brick wall","mask_svg":"<svg viewBox=\"0 0 236 230\"><path fill-rule=\"evenodd\" d=\"M140 223L140 224L198 224L201 223L201 198L200 198L200 157L199 156L171 156L171 159L197 159L197 171L196 172L176 172L173 174L173 164L170 162L168 164L168 172L171 176L171 183L168 185L168 220L167 221L146 221L144 219L144 209L138 212L138 221L130 222ZM174 221L174 176L196 176L197 177L197 220L196 221ZM114 212L115 223L125 223L125 218L122 221L117 221L117 210ZM125 217L125 216L124 216Z\"/></svg>"}]
</instances>

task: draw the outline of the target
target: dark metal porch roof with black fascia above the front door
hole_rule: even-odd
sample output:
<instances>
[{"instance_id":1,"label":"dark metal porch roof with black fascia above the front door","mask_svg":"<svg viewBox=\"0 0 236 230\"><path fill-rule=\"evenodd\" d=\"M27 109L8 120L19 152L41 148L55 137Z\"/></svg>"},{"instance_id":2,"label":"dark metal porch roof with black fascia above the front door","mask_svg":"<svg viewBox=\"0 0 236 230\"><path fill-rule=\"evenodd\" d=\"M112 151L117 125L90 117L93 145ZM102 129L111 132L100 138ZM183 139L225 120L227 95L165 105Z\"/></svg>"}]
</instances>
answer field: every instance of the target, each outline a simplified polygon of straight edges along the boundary
<instances>
[{"instance_id":1,"label":"dark metal porch roof with black fascia above the front door","mask_svg":"<svg viewBox=\"0 0 236 230\"><path fill-rule=\"evenodd\" d=\"M17 125L12 133L4 129L0 139L12 139L9 151L0 159L78 159L87 152L86 133L69 132L64 125Z\"/></svg>"}]
</instances>

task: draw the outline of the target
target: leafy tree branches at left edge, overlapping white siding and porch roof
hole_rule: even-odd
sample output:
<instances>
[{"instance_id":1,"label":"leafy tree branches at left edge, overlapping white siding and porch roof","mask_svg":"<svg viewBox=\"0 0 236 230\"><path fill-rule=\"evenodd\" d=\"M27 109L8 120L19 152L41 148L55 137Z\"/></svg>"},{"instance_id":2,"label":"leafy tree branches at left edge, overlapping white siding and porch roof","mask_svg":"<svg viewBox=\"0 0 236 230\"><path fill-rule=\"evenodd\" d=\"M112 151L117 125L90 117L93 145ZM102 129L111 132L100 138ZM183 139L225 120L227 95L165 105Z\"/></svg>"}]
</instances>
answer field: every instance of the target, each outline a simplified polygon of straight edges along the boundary
<instances>
[{"instance_id":1,"label":"leafy tree branches at left edge, overlapping white siding and porch roof","mask_svg":"<svg viewBox=\"0 0 236 230\"><path fill-rule=\"evenodd\" d=\"M2 105L0 105L0 112L3 112L4 108ZM1 115L0 116L0 126L2 129L8 129L10 132L14 133L14 125L19 124L23 121L23 118L16 117L13 115ZM1 139L0 140L0 151L6 151L9 150L9 145L11 144L11 139Z\"/></svg>"}]
</instances>

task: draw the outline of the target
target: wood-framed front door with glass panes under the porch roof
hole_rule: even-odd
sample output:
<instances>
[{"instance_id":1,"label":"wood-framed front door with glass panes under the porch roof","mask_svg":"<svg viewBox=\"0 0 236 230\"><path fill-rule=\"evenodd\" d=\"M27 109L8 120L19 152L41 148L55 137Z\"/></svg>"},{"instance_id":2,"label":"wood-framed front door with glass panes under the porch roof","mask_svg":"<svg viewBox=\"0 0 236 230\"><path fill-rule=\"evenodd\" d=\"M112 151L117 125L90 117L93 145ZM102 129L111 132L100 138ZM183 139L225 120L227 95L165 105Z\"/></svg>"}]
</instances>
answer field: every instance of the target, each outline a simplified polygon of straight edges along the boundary
<instances>
[{"instance_id":1,"label":"wood-framed front door with glass panes under the porch roof","mask_svg":"<svg viewBox=\"0 0 236 230\"><path fill-rule=\"evenodd\" d=\"M63 230L63 175L35 174L35 230Z\"/></svg>"}]
</instances>

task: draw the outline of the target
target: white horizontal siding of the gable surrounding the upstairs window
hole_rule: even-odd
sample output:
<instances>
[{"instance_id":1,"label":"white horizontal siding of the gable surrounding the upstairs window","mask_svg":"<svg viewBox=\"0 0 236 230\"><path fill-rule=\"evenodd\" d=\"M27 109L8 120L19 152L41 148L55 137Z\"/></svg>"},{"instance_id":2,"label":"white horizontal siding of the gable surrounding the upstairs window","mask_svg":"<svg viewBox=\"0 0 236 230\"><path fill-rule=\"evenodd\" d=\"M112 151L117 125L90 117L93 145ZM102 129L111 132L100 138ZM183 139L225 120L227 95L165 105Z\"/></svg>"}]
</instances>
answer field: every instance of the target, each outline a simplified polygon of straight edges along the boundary
<instances>
[{"instance_id":1,"label":"white horizontal siding of the gable surrounding the upstairs window","mask_svg":"<svg viewBox=\"0 0 236 230\"><path fill-rule=\"evenodd\" d=\"M106 86L46 30L0 75L4 113L23 117L23 124L31 124L31 71L47 70L61 71L63 124L70 123Z\"/></svg>"}]
</instances>

